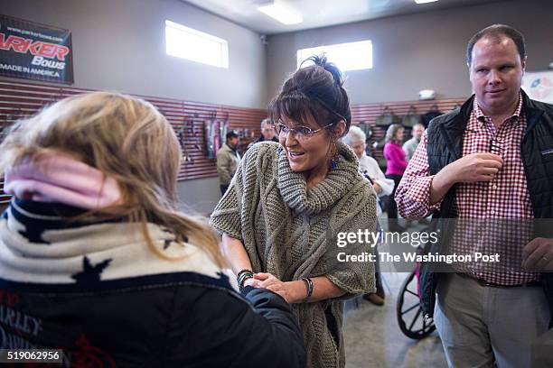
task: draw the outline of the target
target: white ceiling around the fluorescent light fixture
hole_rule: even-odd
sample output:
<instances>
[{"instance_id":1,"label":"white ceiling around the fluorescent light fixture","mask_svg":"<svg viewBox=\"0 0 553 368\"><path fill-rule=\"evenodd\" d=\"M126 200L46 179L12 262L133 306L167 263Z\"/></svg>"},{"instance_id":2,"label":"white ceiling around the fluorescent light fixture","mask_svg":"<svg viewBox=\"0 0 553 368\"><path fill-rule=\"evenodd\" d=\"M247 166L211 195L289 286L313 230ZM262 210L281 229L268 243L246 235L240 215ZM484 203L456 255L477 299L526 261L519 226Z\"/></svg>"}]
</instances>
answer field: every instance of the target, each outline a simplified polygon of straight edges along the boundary
<instances>
[{"instance_id":1,"label":"white ceiling around the fluorescent light fixture","mask_svg":"<svg viewBox=\"0 0 553 368\"><path fill-rule=\"evenodd\" d=\"M276 0L294 9L304 22L278 23L258 11L264 0L182 0L261 34L294 32L385 16L427 12L456 6L479 5L500 0L438 0L417 5L413 0Z\"/></svg>"}]
</instances>

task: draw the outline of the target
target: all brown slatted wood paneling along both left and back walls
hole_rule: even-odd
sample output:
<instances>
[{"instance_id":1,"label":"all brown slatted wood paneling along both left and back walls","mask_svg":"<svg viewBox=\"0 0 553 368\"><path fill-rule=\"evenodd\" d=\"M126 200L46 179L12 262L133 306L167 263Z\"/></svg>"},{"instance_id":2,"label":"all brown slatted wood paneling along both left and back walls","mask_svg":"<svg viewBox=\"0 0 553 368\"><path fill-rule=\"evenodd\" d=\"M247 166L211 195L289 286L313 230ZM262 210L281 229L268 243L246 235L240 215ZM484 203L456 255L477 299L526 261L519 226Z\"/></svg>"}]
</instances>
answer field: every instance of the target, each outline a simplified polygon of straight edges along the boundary
<instances>
[{"instance_id":1,"label":"all brown slatted wood paneling along both left and back walls","mask_svg":"<svg viewBox=\"0 0 553 368\"><path fill-rule=\"evenodd\" d=\"M52 104L61 98L89 92L89 89L52 86L47 84L32 84L8 82L0 80L0 126L13 124L17 119L34 115L43 106ZM224 106L201 102L190 102L172 98L146 97L144 98L156 106L173 125L177 136L183 138L184 147L192 161L183 161L179 172L179 180L212 178L217 176L215 160L208 159L204 153L204 124L216 115L216 119L229 120L230 129L238 129L244 134L242 140L245 147L259 134L259 123L267 116L264 109L254 109L236 106ZM447 98L429 101L404 101L393 103L361 104L351 106L352 124L364 122L372 126L370 143L379 142L385 130L376 126L376 118L386 106L395 115L406 115L410 106L415 106L418 114L425 114L433 106L442 112L447 112L464 102L465 98ZM184 122L189 122L187 129L183 129ZM192 129L190 128L192 126ZM409 134L407 130L406 134ZM0 132L0 141L2 132ZM381 149L371 149L375 158L382 160ZM4 181L0 179L0 204L9 200L9 196L2 191Z\"/></svg>"}]
</instances>

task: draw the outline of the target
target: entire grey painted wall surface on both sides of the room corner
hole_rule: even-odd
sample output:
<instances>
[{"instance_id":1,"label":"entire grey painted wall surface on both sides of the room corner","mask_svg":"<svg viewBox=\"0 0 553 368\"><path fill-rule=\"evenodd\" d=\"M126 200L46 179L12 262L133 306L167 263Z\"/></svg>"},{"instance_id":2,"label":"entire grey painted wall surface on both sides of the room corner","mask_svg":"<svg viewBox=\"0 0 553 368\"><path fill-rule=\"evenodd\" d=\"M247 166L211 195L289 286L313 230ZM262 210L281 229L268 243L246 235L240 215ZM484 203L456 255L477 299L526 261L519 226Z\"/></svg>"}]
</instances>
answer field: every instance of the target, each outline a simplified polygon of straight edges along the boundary
<instances>
[{"instance_id":1,"label":"entire grey painted wall surface on both sides of the room corner","mask_svg":"<svg viewBox=\"0 0 553 368\"><path fill-rule=\"evenodd\" d=\"M508 23L526 36L529 71L553 61L553 2L506 0L351 23L304 32L259 34L180 0L2 0L0 13L68 28L75 87L117 90L207 103L265 107L295 70L297 49L370 39L374 68L347 73L352 104L404 101L420 89L437 97L471 93L464 48L479 29ZM229 41L230 69L170 57L169 19ZM220 198L217 178L179 183L183 203L209 214Z\"/></svg>"}]
</instances>

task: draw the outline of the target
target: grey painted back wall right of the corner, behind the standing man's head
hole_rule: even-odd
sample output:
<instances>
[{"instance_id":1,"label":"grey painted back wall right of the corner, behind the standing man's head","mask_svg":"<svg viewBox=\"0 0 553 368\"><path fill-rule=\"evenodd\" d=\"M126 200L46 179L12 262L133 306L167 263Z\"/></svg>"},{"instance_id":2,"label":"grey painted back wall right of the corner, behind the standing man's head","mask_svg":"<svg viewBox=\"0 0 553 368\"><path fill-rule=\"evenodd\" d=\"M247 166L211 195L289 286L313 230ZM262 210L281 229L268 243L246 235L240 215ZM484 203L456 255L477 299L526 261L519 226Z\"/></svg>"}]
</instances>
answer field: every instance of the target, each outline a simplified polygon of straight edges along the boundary
<instances>
[{"instance_id":1,"label":"grey painted back wall right of the corner, behind the standing man's head","mask_svg":"<svg viewBox=\"0 0 553 368\"><path fill-rule=\"evenodd\" d=\"M298 49L367 39L374 66L346 73L352 104L414 100L421 89L434 89L437 97L468 97L464 52L473 34L493 23L509 24L526 37L527 70L546 70L553 61L551 14L550 0L499 1L270 36L267 101L296 69Z\"/></svg>"}]
</instances>

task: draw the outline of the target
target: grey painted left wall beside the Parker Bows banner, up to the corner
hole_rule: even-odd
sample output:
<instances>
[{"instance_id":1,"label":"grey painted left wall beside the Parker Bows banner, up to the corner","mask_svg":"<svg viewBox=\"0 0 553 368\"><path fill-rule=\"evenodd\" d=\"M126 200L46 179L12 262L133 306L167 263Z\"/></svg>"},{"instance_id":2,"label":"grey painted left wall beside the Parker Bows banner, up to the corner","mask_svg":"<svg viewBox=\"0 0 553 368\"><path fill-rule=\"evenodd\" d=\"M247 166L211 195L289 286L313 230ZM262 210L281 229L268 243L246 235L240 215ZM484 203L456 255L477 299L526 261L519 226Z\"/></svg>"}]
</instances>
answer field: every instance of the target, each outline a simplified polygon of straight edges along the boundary
<instances>
[{"instance_id":1,"label":"grey painted left wall beside the Parker Bows banner, up to the corner","mask_svg":"<svg viewBox=\"0 0 553 368\"><path fill-rule=\"evenodd\" d=\"M1 0L0 13L71 32L74 87L213 104L264 107L266 51L256 32L180 0ZM165 53L164 21L229 42L229 69ZM219 179L179 182L183 203L209 214Z\"/></svg>"}]
</instances>

